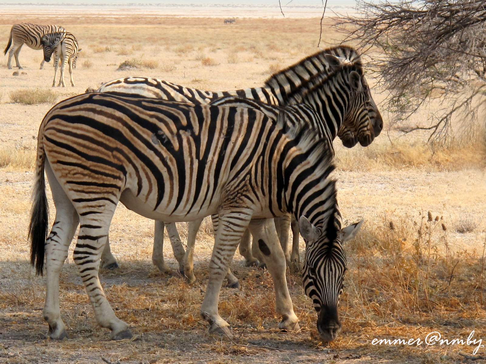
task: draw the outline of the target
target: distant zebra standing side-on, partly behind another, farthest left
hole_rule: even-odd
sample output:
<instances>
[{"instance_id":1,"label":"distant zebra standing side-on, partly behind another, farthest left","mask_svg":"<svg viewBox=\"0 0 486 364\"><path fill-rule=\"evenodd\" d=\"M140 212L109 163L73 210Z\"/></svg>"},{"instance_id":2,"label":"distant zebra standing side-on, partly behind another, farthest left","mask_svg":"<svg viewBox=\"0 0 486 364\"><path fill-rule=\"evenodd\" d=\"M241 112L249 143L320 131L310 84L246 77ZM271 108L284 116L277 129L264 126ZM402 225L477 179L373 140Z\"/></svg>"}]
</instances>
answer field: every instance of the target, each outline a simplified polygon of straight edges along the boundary
<instances>
[{"instance_id":1,"label":"distant zebra standing side-on, partly behind another, farthest left","mask_svg":"<svg viewBox=\"0 0 486 364\"><path fill-rule=\"evenodd\" d=\"M8 52L8 69L12 69L13 55L15 55L15 62L17 63L16 67L18 67L18 69L23 69L18 62L18 53L20 53L20 49L22 48L24 43L33 50L41 50L42 44L40 42L40 39L42 38L42 36L47 33L54 32L66 32L66 30L63 27L57 25L38 25L31 23L14 24L10 31L10 38L8 40L7 47L3 52L4 55ZM42 67L44 66L44 62L45 61L42 60L40 64L40 69L42 69Z\"/></svg>"}]
</instances>

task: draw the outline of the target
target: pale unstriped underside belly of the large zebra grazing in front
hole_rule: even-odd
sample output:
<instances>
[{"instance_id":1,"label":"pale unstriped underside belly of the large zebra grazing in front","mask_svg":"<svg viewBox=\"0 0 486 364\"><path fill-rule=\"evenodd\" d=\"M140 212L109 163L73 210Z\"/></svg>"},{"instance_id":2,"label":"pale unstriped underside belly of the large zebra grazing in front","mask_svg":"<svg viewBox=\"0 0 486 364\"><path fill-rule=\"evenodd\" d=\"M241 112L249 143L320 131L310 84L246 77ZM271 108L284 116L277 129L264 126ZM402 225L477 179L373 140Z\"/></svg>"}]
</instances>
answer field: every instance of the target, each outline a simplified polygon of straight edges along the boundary
<instances>
[{"instance_id":1,"label":"pale unstriped underside belly of the large zebra grazing in front","mask_svg":"<svg viewBox=\"0 0 486 364\"><path fill-rule=\"evenodd\" d=\"M136 212L139 215L148 217L153 220L166 222L186 222L193 221L208 215L217 213L217 203L212 203L210 206L201 209L194 209L195 211L166 211L154 210L151 204L146 203L143 199L135 196L130 189L123 191L120 197L120 202L126 206L127 209Z\"/></svg>"}]
</instances>

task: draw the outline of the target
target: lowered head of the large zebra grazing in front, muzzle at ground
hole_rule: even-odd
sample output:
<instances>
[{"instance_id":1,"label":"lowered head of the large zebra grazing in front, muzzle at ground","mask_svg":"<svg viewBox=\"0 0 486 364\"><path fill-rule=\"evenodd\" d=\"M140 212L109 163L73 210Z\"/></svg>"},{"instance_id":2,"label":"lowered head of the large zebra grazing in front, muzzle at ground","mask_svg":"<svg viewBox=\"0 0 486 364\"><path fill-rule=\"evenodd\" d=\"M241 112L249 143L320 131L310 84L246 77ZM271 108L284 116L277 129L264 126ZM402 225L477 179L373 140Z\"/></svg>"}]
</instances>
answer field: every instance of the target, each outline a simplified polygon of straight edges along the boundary
<instances>
[{"instance_id":1,"label":"lowered head of the large zebra grazing in front, muzzle at ground","mask_svg":"<svg viewBox=\"0 0 486 364\"><path fill-rule=\"evenodd\" d=\"M340 229L339 213L333 215L326 228L315 227L305 216L299 219L300 234L306 242L304 290L314 304L317 330L324 341L334 341L341 331L338 304L347 269L343 243L352 239L363 224L361 220Z\"/></svg>"}]
</instances>

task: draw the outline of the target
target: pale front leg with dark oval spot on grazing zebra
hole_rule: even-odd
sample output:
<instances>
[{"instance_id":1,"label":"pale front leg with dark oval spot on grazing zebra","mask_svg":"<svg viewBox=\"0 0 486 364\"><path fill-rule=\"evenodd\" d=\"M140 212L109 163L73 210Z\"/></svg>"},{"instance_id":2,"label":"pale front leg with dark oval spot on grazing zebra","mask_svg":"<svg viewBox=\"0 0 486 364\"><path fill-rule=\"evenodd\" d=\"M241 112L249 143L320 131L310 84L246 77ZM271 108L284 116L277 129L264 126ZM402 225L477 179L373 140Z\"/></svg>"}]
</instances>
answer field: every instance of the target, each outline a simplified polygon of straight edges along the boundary
<instances>
[{"instance_id":1,"label":"pale front leg with dark oval spot on grazing zebra","mask_svg":"<svg viewBox=\"0 0 486 364\"><path fill-rule=\"evenodd\" d=\"M263 261L274 281L276 311L282 315L278 328L284 331L299 331L298 318L294 313L285 277L285 255L278 241L273 219L252 220L248 226L253 239L258 242ZM254 240L254 241L255 241Z\"/></svg>"}]
</instances>

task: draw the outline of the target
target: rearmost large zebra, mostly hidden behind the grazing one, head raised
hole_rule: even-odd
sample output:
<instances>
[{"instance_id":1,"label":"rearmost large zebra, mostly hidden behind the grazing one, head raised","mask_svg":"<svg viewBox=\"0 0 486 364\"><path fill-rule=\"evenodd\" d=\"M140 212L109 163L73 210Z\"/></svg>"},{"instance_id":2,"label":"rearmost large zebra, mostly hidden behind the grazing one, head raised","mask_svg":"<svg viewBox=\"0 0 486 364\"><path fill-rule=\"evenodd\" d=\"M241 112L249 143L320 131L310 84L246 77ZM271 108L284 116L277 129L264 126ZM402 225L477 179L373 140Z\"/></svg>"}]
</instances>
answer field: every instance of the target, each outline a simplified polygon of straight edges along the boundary
<instances>
[{"instance_id":1,"label":"rearmost large zebra, mostly hidden behind the grazing one, head raised","mask_svg":"<svg viewBox=\"0 0 486 364\"><path fill-rule=\"evenodd\" d=\"M247 88L234 91L204 91L193 89L189 87L180 86L174 83L148 78L148 77L125 77L104 83L96 92L105 92L112 95L127 96L127 97L147 97L157 99L168 99L182 102L192 103L209 103L212 100L223 97L240 97L245 99L256 99L270 105L286 105L292 101L292 95L300 90L303 84L306 84L311 78L317 75L328 74L331 68L335 67L335 59L333 59L332 66L329 63L327 54L337 57L340 64L361 65L361 57L351 47L340 46L332 47L311 56L304 58L293 66L290 66L280 72L272 75L263 87ZM374 122L374 134L378 136L382 130L382 118L378 116L372 120ZM334 134L335 136L335 134ZM350 147L350 146L349 146ZM286 218L281 218L281 228L279 229L282 241L288 240L288 225L290 221ZM188 228L188 246L194 245L195 234L199 228L201 221L194 221L189 224ZM184 272L188 281L195 279L192 272L192 264L188 262L187 256L185 258L185 251L180 243L180 238L174 224L165 224L171 237L171 244L174 249L174 255L179 263L179 270ZM294 242L292 255L286 252L286 258L292 263L295 269L299 269L298 263L298 228L295 221L292 225L294 232ZM154 232L154 249L153 262L161 271L169 272L170 268L165 265L163 260L163 230L164 223L156 221L156 228ZM285 233L286 232L286 233ZM258 260L253 256L249 248L249 235L245 234L242 244L240 245L240 253L245 258L245 265L254 265ZM188 254L192 254L190 251ZM117 260L111 254L109 243L103 251L102 260L105 268L118 267ZM192 260L191 260L192 261ZM299 269L300 270L300 269ZM236 277L230 275L228 277L228 286L238 287Z\"/></svg>"}]
</instances>

